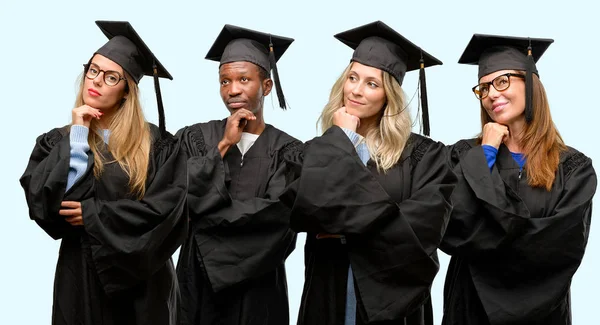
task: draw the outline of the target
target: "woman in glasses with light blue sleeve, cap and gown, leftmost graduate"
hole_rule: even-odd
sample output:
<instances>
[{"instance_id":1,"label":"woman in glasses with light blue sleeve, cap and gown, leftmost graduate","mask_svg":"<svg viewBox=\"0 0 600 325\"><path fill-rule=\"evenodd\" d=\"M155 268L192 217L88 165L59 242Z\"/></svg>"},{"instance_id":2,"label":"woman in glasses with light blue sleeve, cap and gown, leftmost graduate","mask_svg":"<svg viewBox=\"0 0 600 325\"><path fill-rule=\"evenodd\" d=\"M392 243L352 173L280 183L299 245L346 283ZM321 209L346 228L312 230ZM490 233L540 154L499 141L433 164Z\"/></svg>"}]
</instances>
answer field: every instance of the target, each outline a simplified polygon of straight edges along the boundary
<instances>
[{"instance_id":1,"label":"woman in glasses with light blue sleeve, cap and gown, leftmost graduate","mask_svg":"<svg viewBox=\"0 0 600 325\"><path fill-rule=\"evenodd\" d=\"M52 324L175 324L186 161L157 80L172 78L128 22L96 24L109 41L85 64L72 123L38 137L20 179L30 218L62 239ZM144 119L143 75L155 78L159 127Z\"/></svg>"}]
</instances>

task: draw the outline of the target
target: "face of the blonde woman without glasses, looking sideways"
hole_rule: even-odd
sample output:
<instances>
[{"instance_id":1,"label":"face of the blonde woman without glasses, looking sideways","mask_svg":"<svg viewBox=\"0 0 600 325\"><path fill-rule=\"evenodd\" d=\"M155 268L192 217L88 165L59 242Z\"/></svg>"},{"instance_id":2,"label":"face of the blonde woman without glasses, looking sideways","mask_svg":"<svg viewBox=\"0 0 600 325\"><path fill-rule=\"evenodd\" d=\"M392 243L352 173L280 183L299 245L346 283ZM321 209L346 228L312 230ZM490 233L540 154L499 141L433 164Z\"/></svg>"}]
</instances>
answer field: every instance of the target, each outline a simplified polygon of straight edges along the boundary
<instances>
[{"instance_id":1,"label":"face of the blonde woman without glasses, looking sideways","mask_svg":"<svg viewBox=\"0 0 600 325\"><path fill-rule=\"evenodd\" d=\"M344 83L344 106L361 123L379 118L386 102L383 73L377 68L353 62Z\"/></svg>"}]
</instances>

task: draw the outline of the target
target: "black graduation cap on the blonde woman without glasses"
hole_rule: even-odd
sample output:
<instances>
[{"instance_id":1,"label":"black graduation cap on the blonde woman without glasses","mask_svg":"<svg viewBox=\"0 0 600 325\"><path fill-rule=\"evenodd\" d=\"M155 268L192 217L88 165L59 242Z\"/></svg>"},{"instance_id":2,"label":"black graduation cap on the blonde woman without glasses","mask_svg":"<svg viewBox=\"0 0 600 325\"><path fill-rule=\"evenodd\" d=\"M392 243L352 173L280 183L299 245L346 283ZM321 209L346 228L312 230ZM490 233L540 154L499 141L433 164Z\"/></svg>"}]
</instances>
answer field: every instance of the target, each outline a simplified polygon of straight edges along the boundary
<instances>
[{"instance_id":1,"label":"black graduation cap on the blonde woman without glasses","mask_svg":"<svg viewBox=\"0 0 600 325\"><path fill-rule=\"evenodd\" d=\"M442 61L423 51L381 21L341 32L334 35L334 37L354 49L352 61L386 71L400 85L402 85L407 71L419 69L423 133L429 136L429 107L425 68L441 65Z\"/></svg>"}]
</instances>

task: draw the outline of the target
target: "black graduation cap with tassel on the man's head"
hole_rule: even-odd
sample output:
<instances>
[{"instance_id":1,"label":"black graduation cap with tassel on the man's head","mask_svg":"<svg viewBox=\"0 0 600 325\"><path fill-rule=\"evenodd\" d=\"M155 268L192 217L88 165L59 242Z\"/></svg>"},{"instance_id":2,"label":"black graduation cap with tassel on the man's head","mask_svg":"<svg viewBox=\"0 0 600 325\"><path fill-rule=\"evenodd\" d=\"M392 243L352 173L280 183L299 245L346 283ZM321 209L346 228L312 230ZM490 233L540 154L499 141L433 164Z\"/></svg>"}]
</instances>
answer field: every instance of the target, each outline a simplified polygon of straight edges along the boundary
<instances>
[{"instance_id":1,"label":"black graduation cap with tassel on the man's head","mask_svg":"<svg viewBox=\"0 0 600 325\"><path fill-rule=\"evenodd\" d=\"M276 62L294 41L293 38L267 34L234 25L225 25L206 59L225 63L246 61L270 72L273 70L279 107L285 109L285 97Z\"/></svg>"}]
</instances>

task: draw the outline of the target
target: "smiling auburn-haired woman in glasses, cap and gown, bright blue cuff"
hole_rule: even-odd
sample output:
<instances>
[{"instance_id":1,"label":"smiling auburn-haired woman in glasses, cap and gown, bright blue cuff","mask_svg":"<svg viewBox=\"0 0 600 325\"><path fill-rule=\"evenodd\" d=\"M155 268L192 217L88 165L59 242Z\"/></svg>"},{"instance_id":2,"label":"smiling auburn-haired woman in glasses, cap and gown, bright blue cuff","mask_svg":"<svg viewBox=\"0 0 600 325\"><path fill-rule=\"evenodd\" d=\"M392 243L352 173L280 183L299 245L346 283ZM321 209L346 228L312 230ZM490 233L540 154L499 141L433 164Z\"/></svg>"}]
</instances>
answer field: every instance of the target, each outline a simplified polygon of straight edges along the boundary
<instances>
[{"instance_id":1,"label":"smiling auburn-haired woman in glasses, cap and gown, bright blue cuff","mask_svg":"<svg viewBox=\"0 0 600 325\"><path fill-rule=\"evenodd\" d=\"M552 121L535 66L552 42L475 34L459 61L479 66L482 130L451 147L443 324L571 324L596 173Z\"/></svg>"}]
</instances>

